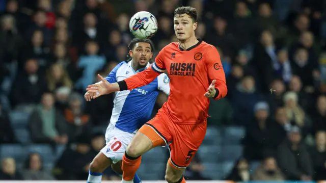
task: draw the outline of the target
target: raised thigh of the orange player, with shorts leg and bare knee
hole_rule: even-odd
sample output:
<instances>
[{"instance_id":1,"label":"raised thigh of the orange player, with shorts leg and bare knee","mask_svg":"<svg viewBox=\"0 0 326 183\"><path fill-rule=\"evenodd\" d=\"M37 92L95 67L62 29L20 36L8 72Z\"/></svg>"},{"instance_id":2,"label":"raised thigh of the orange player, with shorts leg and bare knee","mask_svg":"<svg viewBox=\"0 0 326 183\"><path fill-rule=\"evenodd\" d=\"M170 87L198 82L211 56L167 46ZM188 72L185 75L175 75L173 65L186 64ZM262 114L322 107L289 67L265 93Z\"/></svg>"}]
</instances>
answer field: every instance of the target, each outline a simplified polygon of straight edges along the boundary
<instances>
[{"instance_id":1,"label":"raised thigh of the orange player, with shorts leg and bare knee","mask_svg":"<svg viewBox=\"0 0 326 183\"><path fill-rule=\"evenodd\" d=\"M127 154L136 157L153 147L166 146L169 141L171 135L166 125L166 116L158 114L138 130L127 148Z\"/></svg>"}]
</instances>

